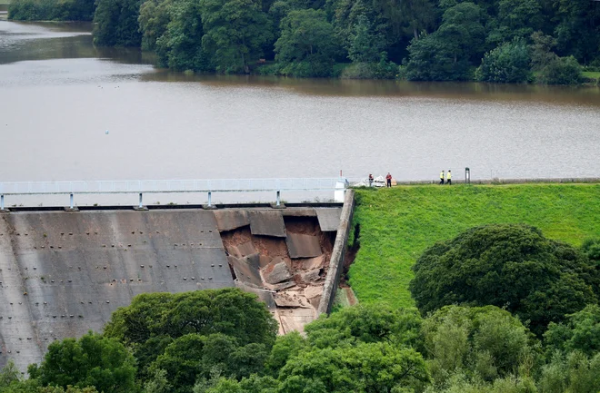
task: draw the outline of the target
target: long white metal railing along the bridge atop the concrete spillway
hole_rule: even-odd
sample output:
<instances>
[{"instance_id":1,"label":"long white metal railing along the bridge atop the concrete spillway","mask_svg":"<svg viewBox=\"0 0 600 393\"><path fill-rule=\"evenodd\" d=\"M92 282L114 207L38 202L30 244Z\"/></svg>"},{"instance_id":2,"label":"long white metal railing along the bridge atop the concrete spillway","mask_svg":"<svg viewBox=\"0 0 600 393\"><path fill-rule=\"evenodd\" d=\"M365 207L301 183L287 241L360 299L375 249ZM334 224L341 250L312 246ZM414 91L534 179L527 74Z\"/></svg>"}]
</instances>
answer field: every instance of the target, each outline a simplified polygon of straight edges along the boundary
<instances>
[{"instance_id":1,"label":"long white metal railing along the bridge atop the concrete spillway","mask_svg":"<svg viewBox=\"0 0 600 393\"><path fill-rule=\"evenodd\" d=\"M92 182L0 182L0 210L4 210L5 195L70 194L73 208L74 194L139 193L142 207L143 193L208 192L277 192L276 204L282 191L335 191L348 186L345 178L292 178L292 179L219 179L219 180L140 180Z\"/></svg>"}]
</instances>

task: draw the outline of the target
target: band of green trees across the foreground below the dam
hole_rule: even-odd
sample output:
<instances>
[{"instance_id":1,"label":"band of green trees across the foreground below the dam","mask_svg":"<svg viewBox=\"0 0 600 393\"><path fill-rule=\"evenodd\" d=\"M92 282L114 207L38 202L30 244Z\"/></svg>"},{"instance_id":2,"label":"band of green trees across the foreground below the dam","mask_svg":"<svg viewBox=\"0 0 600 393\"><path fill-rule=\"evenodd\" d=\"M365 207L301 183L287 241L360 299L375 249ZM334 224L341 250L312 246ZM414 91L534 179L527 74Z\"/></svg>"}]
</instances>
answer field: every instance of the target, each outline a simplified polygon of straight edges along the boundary
<instances>
[{"instance_id":1,"label":"band of green trees across the foreground below the dam","mask_svg":"<svg viewBox=\"0 0 600 393\"><path fill-rule=\"evenodd\" d=\"M28 379L9 363L0 393L597 393L599 282L599 240L477 227L419 258L418 309L347 307L277 337L254 294L142 294Z\"/></svg>"}]
</instances>

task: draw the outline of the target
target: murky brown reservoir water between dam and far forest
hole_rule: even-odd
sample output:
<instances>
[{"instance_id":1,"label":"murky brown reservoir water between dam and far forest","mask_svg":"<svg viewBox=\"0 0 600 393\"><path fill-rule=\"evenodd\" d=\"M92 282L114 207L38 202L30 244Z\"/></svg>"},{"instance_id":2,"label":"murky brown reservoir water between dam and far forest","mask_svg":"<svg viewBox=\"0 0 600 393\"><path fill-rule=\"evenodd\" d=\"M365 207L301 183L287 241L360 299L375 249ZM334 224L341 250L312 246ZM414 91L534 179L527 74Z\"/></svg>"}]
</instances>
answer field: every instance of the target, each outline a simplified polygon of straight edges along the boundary
<instances>
[{"instance_id":1,"label":"murky brown reservoir water between dam and far forest","mask_svg":"<svg viewBox=\"0 0 600 393\"><path fill-rule=\"evenodd\" d=\"M90 29L0 20L2 181L600 173L596 87L177 74Z\"/></svg>"}]
</instances>

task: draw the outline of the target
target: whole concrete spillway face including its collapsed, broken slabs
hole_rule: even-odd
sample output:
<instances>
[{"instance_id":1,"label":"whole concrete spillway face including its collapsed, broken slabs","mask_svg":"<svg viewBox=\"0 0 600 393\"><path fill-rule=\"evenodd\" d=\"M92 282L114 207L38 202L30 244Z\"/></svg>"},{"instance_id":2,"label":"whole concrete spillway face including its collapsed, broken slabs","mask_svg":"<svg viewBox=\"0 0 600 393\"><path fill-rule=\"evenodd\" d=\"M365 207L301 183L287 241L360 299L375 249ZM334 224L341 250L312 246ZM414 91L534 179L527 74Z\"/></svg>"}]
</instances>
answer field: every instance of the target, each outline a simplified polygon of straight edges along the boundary
<instances>
[{"instance_id":1,"label":"whole concrete spillway face including its collapsed, broken slabs","mask_svg":"<svg viewBox=\"0 0 600 393\"><path fill-rule=\"evenodd\" d=\"M317 315L340 211L0 214L0 368L14 359L25 370L52 341L102 331L144 292L238 286L266 302L281 332L302 329Z\"/></svg>"}]
</instances>

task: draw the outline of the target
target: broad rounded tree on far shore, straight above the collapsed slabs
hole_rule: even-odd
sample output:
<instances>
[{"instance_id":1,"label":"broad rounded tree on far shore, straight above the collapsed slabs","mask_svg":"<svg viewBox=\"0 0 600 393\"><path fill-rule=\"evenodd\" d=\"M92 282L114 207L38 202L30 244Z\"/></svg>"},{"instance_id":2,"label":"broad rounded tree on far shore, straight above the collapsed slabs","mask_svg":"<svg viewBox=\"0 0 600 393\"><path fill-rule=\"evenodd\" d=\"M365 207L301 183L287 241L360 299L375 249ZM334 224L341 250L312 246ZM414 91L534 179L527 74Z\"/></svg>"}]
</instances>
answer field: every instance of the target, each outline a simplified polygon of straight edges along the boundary
<instances>
[{"instance_id":1,"label":"broad rounded tree on far shore, straight above the collapsed slabs","mask_svg":"<svg viewBox=\"0 0 600 393\"><path fill-rule=\"evenodd\" d=\"M281 22L281 36L275 42L275 60L280 64L301 64L285 74L329 76L338 53L334 28L324 11L291 11ZM304 63L304 66L302 65Z\"/></svg>"}]
</instances>

